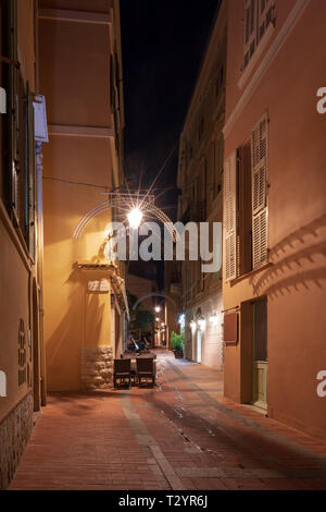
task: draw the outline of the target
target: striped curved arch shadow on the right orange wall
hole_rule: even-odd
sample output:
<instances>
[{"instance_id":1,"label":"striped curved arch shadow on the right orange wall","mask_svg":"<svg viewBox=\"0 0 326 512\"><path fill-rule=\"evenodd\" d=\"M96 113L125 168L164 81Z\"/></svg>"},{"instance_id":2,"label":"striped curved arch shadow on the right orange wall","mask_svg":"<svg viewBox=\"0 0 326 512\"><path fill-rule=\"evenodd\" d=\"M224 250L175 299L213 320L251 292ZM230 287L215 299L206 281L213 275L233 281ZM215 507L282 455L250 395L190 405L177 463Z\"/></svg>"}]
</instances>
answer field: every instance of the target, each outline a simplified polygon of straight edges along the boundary
<instances>
[{"instance_id":1,"label":"striped curved arch shadow on the right orange wall","mask_svg":"<svg viewBox=\"0 0 326 512\"><path fill-rule=\"evenodd\" d=\"M254 294L256 296L266 294L274 300L278 294L284 296L287 293L299 292L300 285L306 291L311 290L312 285L319 290L324 289L326 241L325 234L321 234L319 231L325 227L326 215L300 228L272 247L269 252L272 267L250 280Z\"/></svg>"}]
</instances>

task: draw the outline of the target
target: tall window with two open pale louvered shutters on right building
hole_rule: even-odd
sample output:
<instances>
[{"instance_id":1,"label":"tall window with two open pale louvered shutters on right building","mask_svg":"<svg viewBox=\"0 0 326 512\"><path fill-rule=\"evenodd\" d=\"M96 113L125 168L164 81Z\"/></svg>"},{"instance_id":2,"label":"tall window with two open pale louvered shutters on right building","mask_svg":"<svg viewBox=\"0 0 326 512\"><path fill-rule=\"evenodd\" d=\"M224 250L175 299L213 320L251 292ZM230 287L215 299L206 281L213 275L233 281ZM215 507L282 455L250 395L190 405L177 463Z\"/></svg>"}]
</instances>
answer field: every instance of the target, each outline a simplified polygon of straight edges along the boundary
<instances>
[{"instance_id":1,"label":"tall window with two open pale louvered shutters on right building","mask_svg":"<svg viewBox=\"0 0 326 512\"><path fill-rule=\"evenodd\" d=\"M268 260L268 117L225 163L225 280L255 270Z\"/></svg>"}]
</instances>

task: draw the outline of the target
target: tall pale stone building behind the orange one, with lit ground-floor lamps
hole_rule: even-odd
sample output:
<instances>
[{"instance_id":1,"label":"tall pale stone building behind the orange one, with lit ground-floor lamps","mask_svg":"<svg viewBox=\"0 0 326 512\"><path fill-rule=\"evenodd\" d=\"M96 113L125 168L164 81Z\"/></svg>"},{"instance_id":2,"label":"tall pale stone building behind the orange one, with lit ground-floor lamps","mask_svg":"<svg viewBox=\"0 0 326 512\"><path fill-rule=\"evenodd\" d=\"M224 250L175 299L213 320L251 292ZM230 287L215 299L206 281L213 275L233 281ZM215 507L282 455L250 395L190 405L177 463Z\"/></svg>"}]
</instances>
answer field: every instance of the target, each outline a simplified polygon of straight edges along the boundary
<instances>
[{"instance_id":1,"label":"tall pale stone building behind the orange one, with lit ground-floor lamps","mask_svg":"<svg viewBox=\"0 0 326 512\"><path fill-rule=\"evenodd\" d=\"M180 135L178 219L222 222L227 20L218 9ZM203 273L202 261L181 264L186 357L223 368L222 272Z\"/></svg>"}]
</instances>

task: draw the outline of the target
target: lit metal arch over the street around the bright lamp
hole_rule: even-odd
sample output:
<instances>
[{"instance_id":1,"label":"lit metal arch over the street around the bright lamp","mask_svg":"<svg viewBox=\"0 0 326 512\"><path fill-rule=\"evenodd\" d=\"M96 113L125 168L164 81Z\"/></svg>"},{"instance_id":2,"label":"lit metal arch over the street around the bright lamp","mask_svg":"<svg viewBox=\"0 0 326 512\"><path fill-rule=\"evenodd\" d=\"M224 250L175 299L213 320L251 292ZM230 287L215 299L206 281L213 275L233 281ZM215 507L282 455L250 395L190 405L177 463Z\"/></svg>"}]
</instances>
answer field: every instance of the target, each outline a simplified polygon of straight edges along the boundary
<instances>
[{"instance_id":1,"label":"lit metal arch over the street around the bright lamp","mask_svg":"<svg viewBox=\"0 0 326 512\"><path fill-rule=\"evenodd\" d=\"M151 217L155 217L163 224L173 225L173 221L170 219L170 217L164 214L161 208L154 205L152 195L111 193L108 194L108 196L109 198L106 200L101 200L100 203L98 203L79 220L73 234L74 239L78 240L84 233L89 222L110 208L116 208L118 210L126 211L127 209L130 209L130 207L134 208L137 206L141 209L141 211L143 211L145 214L149 214ZM171 228L171 225L167 229L173 239L175 240L177 233L173 228Z\"/></svg>"}]
</instances>

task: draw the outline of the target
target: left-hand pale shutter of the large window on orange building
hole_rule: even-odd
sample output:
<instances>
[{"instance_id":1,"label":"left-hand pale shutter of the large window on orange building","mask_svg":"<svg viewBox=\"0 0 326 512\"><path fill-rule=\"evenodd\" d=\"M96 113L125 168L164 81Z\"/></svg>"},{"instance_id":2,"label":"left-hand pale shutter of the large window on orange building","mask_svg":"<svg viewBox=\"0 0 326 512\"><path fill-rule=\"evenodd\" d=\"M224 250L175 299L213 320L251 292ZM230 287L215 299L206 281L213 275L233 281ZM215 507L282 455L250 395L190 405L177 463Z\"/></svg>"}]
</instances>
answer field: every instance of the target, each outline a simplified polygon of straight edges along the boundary
<instances>
[{"instance_id":1,"label":"left-hand pale shutter of the large window on orange building","mask_svg":"<svg viewBox=\"0 0 326 512\"><path fill-rule=\"evenodd\" d=\"M224 268L225 281L237 277L237 157L225 163L224 175Z\"/></svg>"}]
</instances>

